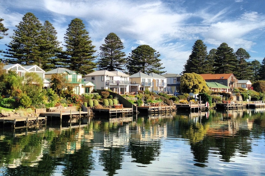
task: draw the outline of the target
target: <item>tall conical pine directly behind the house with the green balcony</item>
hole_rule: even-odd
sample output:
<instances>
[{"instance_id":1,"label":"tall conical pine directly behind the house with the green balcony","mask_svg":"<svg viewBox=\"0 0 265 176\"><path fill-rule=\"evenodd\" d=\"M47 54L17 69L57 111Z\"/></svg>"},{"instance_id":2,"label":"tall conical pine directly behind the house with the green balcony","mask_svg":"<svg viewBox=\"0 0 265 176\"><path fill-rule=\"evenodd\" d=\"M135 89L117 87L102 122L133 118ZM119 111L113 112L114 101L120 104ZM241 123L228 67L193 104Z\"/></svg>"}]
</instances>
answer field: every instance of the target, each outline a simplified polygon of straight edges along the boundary
<instances>
[{"instance_id":1,"label":"tall conical pine directly behind the house with the green balcony","mask_svg":"<svg viewBox=\"0 0 265 176\"><path fill-rule=\"evenodd\" d=\"M96 68L96 63L93 62L96 58L93 56L96 52L95 46L92 45L89 32L85 30L81 19L75 18L71 21L64 39L66 43L64 53L67 57L64 62L69 65L69 69L83 75L93 72Z\"/></svg>"}]
</instances>

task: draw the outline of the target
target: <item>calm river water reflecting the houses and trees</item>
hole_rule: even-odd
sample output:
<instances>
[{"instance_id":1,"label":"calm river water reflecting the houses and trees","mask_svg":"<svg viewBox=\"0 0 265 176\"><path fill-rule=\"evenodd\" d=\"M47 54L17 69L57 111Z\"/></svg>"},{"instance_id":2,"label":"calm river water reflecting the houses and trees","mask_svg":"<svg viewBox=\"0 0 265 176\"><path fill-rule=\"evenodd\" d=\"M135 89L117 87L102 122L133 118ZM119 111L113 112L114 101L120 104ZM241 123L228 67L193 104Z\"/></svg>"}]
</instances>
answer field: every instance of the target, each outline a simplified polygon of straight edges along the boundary
<instances>
[{"instance_id":1,"label":"calm river water reflecting the houses and trees","mask_svg":"<svg viewBox=\"0 0 265 176\"><path fill-rule=\"evenodd\" d=\"M1 129L0 175L265 175L265 113L213 110Z\"/></svg>"}]
</instances>

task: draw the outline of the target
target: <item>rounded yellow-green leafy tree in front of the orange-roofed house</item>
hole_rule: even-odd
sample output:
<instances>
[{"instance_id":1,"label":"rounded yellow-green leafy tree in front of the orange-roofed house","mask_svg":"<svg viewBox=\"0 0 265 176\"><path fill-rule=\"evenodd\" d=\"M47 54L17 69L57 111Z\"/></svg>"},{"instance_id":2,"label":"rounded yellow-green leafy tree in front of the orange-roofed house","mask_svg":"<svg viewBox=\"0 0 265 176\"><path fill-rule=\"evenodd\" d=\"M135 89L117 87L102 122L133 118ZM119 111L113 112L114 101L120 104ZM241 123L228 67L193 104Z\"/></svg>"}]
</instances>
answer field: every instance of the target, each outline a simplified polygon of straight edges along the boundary
<instances>
[{"instance_id":1,"label":"rounded yellow-green leafy tree in front of the orange-roofed house","mask_svg":"<svg viewBox=\"0 0 265 176\"><path fill-rule=\"evenodd\" d=\"M183 93L204 93L208 92L209 88L206 81L199 74L184 73L180 79L180 90Z\"/></svg>"}]
</instances>

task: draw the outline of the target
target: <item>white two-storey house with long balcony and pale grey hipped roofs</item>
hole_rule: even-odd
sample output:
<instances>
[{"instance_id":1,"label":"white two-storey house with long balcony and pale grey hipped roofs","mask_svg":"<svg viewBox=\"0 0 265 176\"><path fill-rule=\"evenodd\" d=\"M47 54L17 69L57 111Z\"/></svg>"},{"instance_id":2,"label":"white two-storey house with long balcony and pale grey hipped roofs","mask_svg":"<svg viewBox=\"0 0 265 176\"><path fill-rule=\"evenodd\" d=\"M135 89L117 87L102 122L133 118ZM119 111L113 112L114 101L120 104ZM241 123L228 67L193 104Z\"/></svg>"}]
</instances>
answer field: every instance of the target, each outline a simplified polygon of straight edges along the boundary
<instances>
[{"instance_id":1,"label":"white two-storey house with long balcony and pale grey hipped roofs","mask_svg":"<svg viewBox=\"0 0 265 176\"><path fill-rule=\"evenodd\" d=\"M85 81L96 85L96 89L109 89L119 94L129 92L129 75L120 71L98 70L85 75Z\"/></svg>"}]
</instances>

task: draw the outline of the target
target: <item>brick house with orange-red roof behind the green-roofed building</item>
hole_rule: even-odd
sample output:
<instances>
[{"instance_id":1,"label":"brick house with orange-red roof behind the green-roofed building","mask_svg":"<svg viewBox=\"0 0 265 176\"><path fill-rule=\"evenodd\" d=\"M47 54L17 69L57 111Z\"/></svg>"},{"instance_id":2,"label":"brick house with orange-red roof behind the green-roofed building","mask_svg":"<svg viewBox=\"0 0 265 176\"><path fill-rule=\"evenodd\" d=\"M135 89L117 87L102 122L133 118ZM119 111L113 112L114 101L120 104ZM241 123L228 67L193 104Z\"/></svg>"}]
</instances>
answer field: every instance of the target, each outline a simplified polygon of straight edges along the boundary
<instances>
[{"instance_id":1,"label":"brick house with orange-red roof behind the green-roofed building","mask_svg":"<svg viewBox=\"0 0 265 176\"><path fill-rule=\"evenodd\" d=\"M238 88L238 80L235 78L233 73L223 74L200 74L206 82L217 82L230 88L230 92L234 88Z\"/></svg>"}]
</instances>

